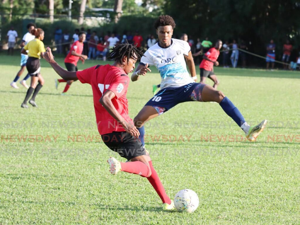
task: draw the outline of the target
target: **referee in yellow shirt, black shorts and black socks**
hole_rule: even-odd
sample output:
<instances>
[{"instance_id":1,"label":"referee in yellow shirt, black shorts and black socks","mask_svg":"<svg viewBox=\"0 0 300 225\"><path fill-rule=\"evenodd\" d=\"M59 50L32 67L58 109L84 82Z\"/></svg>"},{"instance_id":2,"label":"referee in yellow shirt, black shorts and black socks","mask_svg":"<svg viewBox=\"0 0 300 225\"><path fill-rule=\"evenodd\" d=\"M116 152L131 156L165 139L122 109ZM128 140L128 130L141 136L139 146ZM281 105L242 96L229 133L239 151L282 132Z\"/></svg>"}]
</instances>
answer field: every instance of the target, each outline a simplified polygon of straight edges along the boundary
<instances>
[{"instance_id":1,"label":"referee in yellow shirt, black shorts and black socks","mask_svg":"<svg viewBox=\"0 0 300 225\"><path fill-rule=\"evenodd\" d=\"M42 42L44 39L44 31L41 28L35 28L31 31L31 34L35 36L35 39L28 42L21 51L22 54L27 54L26 50L28 50L29 57L26 63L26 68L31 77L30 88L27 90L26 97L21 105L22 108L28 108L27 101L32 95L32 92L33 95L29 100L29 104L33 107L37 107L35 97L44 85L44 78L40 73L40 59L41 57L44 58L44 52L46 51L44 43ZM36 85L37 82L38 85Z\"/></svg>"}]
</instances>

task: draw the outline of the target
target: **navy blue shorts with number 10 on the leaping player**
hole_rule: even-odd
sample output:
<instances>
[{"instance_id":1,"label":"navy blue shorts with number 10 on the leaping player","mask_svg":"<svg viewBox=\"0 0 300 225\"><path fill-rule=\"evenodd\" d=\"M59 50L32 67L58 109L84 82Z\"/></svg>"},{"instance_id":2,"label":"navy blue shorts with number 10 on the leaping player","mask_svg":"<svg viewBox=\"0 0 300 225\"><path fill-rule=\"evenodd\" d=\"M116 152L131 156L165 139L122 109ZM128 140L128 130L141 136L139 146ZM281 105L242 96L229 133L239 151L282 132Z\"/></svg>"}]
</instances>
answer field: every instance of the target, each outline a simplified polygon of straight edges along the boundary
<instances>
[{"instance_id":1,"label":"navy blue shorts with number 10 on the leaping player","mask_svg":"<svg viewBox=\"0 0 300 225\"><path fill-rule=\"evenodd\" d=\"M181 87L161 89L145 106L154 107L158 115L161 115L179 103L202 101L201 95L205 85L204 83L189 83Z\"/></svg>"}]
</instances>

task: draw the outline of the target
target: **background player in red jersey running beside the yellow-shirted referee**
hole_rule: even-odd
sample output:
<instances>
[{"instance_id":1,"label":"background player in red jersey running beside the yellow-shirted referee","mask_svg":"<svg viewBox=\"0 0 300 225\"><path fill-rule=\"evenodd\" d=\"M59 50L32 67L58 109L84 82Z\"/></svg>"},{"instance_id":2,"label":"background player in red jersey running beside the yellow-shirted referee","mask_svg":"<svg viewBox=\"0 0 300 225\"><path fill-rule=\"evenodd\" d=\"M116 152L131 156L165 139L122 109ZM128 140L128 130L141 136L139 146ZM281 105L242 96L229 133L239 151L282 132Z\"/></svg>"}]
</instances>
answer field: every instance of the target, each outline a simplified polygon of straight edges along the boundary
<instances>
[{"instance_id":1,"label":"background player in red jersey running beside the yellow-shirted referee","mask_svg":"<svg viewBox=\"0 0 300 225\"><path fill-rule=\"evenodd\" d=\"M85 32L79 33L79 40L75 41L72 44L69 53L67 54L66 58L64 59L64 65L66 66L66 68L69 72L78 71L77 62L79 59L82 61L82 64L83 64L84 61L88 58L87 55L82 55L83 42L85 40L85 37L86 37ZM59 83L67 82L67 84L64 88L64 91L62 92L62 94L64 94L70 88L73 81L74 80L55 79L55 88L57 89Z\"/></svg>"}]
</instances>

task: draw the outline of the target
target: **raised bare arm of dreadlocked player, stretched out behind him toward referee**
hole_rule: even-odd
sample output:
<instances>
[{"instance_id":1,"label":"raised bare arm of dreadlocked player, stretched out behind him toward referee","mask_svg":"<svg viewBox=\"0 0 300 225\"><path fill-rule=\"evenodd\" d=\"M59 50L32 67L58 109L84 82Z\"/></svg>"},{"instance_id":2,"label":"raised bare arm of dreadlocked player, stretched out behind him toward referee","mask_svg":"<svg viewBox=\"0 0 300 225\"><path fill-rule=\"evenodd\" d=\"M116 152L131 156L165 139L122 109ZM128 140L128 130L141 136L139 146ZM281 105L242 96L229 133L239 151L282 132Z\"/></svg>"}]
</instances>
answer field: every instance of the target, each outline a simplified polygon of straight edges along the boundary
<instances>
[{"instance_id":1,"label":"raised bare arm of dreadlocked player, stretched out behind him toward referee","mask_svg":"<svg viewBox=\"0 0 300 225\"><path fill-rule=\"evenodd\" d=\"M46 52L44 53L44 59L50 63L55 72L61 76L64 80L78 80L76 76L76 72L69 72L63 68L61 68L54 60L51 49L48 47Z\"/></svg>"}]
</instances>

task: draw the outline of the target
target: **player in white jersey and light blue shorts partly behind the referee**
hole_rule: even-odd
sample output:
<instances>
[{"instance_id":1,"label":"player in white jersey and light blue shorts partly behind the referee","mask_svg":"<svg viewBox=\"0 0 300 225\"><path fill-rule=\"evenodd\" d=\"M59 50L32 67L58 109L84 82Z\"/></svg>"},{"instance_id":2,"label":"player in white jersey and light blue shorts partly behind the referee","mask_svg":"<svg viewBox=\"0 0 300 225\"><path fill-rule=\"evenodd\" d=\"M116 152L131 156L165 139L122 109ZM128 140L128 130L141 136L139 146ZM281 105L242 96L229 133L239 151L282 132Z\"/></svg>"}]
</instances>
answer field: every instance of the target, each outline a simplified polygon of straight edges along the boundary
<instances>
[{"instance_id":1,"label":"player in white jersey and light blue shorts partly behind the referee","mask_svg":"<svg viewBox=\"0 0 300 225\"><path fill-rule=\"evenodd\" d=\"M31 31L33 29L35 29L35 24L34 23L29 23L27 24L27 30L28 32L23 36L22 42L20 44L20 47L24 47L28 42L30 42L31 40L35 39L35 36L31 34ZM12 86L13 88L18 89L19 87L16 85L16 82L19 80L20 76L22 75L22 73L24 72L25 68L26 68L26 62L28 59L28 55L24 55L21 53L21 69L19 70L19 72L17 73L15 79L13 80L13 82L10 83L10 86ZM26 80L30 77L29 74L26 75L26 77L24 77L23 80L20 81L20 84L22 84L24 87L26 87L27 89L29 88L29 86L26 84Z\"/></svg>"}]
</instances>

